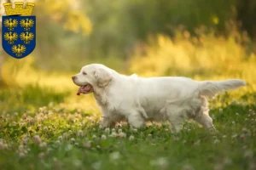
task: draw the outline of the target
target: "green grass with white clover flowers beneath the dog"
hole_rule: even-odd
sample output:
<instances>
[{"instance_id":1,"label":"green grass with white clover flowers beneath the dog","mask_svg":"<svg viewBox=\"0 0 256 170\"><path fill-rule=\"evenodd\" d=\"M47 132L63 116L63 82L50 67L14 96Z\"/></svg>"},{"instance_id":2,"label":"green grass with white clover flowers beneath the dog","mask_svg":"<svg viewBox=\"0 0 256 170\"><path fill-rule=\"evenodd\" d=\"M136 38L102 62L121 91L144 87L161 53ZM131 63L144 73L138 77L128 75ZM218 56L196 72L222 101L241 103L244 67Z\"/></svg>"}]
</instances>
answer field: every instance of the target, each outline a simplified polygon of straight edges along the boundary
<instances>
[{"instance_id":1,"label":"green grass with white clover flowers beneath the dog","mask_svg":"<svg viewBox=\"0 0 256 170\"><path fill-rule=\"evenodd\" d=\"M186 122L177 134L168 123L100 129L98 114L67 107L65 97L32 86L1 92L1 169L255 168L255 95L212 101L219 133Z\"/></svg>"}]
</instances>

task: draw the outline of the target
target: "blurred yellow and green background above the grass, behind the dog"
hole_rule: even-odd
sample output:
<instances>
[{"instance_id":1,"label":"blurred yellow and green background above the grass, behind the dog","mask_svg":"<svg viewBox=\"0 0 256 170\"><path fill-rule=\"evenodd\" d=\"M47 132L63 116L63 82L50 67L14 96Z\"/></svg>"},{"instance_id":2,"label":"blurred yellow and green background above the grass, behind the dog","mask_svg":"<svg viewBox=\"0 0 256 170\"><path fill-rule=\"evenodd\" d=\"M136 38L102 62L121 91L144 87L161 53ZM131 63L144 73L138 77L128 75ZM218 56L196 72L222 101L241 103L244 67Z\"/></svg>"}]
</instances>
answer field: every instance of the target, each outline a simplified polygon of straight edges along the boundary
<instances>
[{"instance_id":1,"label":"blurred yellow and green background above the grass, behind the dog","mask_svg":"<svg viewBox=\"0 0 256 170\"><path fill-rule=\"evenodd\" d=\"M0 1L1 15L7 2L15 1ZM24 59L13 59L0 48L2 94L9 89L28 93L24 89L30 86L37 87L30 95L39 95L38 90L43 95L44 88L70 92L65 103L90 98L73 95L77 87L71 76L83 65L102 63L142 77L242 78L248 86L239 96L249 93L255 99L255 0L23 2L35 3L37 45ZM16 95L6 93L2 99Z\"/></svg>"}]
</instances>

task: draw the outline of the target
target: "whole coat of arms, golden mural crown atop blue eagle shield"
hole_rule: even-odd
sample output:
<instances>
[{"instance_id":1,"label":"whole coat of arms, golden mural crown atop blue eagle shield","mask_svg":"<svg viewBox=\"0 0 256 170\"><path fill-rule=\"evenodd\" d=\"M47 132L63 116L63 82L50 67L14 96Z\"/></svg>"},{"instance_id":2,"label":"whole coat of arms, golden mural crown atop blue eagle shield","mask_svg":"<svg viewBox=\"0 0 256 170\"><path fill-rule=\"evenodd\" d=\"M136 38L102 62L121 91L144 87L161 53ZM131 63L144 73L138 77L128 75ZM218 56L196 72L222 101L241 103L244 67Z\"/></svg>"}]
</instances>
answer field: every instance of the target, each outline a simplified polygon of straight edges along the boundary
<instances>
[{"instance_id":1,"label":"whole coat of arms, golden mural crown atop blue eagle shield","mask_svg":"<svg viewBox=\"0 0 256 170\"><path fill-rule=\"evenodd\" d=\"M36 47L36 16L32 16L34 3L3 3L6 16L2 23L2 45L10 56L21 59L31 54Z\"/></svg>"}]
</instances>

